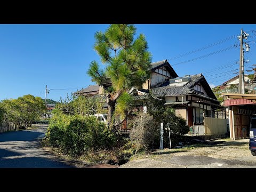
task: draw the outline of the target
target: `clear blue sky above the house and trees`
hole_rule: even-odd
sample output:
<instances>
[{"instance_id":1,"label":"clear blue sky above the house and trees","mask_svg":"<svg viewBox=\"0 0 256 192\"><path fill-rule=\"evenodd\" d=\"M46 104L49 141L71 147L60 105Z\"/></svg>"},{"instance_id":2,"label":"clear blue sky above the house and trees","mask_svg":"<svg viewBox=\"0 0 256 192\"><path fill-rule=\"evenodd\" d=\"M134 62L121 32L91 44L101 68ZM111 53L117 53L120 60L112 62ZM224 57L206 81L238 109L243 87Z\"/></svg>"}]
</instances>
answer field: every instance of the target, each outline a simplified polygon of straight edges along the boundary
<instances>
[{"instance_id":1,"label":"clear blue sky above the house and trees","mask_svg":"<svg viewBox=\"0 0 256 192\"><path fill-rule=\"evenodd\" d=\"M0 100L32 94L59 100L67 93L93 85L86 75L91 61L100 61L93 50L94 33L109 25L0 25ZM244 24L140 24L137 35L145 34L153 62L167 59L179 76L203 73L211 85L234 77L239 65L241 28L250 31L250 52L245 53L245 70L256 64L256 25ZM230 37L230 38L229 38ZM221 40L223 43L218 43ZM207 49L183 55L207 45ZM234 45L238 45L235 47ZM232 47L233 46L233 47ZM227 48L227 49L226 49ZM221 51L222 50L222 51ZM225 51L226 50L226 51ZM219 52L218 52L219 51ZM218 53L216 53L218 52ZM213 54L211 54L213 53ZM210 54L210 55L209 55ZM207 56L209 55L209 56ZM179 57L178 57L179 56ZM175 58L177 57L177 58ZM200 58L201 59L197 59ZM192 60L192 61L189 61ZM246 72L245 74L252 74Z\"/></svg>"}]
</instances>

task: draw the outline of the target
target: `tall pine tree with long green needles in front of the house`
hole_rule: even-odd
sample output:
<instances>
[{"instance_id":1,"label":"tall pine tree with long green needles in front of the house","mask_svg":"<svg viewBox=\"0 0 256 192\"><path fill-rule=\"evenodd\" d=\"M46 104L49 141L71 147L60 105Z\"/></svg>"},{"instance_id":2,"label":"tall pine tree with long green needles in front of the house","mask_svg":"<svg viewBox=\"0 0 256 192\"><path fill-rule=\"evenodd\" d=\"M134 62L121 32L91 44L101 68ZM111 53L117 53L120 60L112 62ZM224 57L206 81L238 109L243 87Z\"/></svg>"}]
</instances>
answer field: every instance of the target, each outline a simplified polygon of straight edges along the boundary
<instances>
[{"instance_id":1,"label":"tall pine tree with long green needles in front of the house","mask_svg":"<svg viewBox=\"0 0 256 192\"><path fill-rule=\"evenodd\" d=\"M121 96L125 98L119 99L119 102L123 102L119 106L128 106L129 103L125 102L131 102L131 98L126 91L132 87L141 88L150 76L151 53L147 51L148 43L143 34L135 37L136 30L134 25L113 24L107 28L105 33L97 31L94 35L94 49L105 67L102 69L94 60L90 63L87 75L98 84L107 83L107 79L111 81L113 89L106 95L108 123L111 119L113 120L118 98ZM127 115L129 111L127 107L125 108L124 114ZM114 128L114 125L121 122L109 125Z\"/></svg>"}]
</instances>

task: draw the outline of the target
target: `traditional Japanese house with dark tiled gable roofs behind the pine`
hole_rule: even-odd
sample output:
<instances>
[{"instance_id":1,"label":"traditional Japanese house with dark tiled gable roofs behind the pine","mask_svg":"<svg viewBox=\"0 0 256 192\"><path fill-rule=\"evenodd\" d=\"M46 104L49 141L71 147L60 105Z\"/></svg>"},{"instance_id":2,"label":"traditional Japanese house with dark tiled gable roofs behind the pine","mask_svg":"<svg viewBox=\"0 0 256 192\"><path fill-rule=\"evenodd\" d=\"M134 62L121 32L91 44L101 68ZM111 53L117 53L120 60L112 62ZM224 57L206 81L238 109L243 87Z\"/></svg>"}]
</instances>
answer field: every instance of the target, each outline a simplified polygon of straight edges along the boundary
<instances>
[{"instance_id":1,"label":"traditional Japanese house with dark tiled gable roofs behind the pine","mask_svg":"<svg viewBox=\"0 0 256 192\"><path fill-rule=\"evenodd\" d=\"M134 100L140 103L141 109L147 110L146 106L143 106L143 100L147 99L150 90L156 98L165 97L164 105L175 108L177 115L186 119L187 125L191 127L191 134L221 135L227 133L225 107L220 105L202 74L179 77L167 60L151 63L150 71L151 76L142 85L142 89L137 90L133 87L133 90L137 91L137 94L133 96ZM98 94L106 94L110 85L110 81L100 84ZM131 90L127 91L134 93ZM79 93L87 95L82 90L76 92L78 95ZM125 123L127 124L127 121ZM124 127L127 128L127 126Z\"/></svg>"}]
</instances>

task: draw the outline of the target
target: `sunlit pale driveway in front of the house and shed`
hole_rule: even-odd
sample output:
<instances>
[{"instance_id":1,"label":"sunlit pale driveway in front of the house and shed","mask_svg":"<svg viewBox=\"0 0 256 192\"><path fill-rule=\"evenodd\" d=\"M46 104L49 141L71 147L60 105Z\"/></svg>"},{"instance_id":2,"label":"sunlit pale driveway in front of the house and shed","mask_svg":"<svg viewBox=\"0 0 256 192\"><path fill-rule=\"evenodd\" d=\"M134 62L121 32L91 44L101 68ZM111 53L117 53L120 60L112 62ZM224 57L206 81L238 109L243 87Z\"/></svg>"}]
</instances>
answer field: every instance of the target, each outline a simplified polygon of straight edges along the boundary
<instances>
[{"instance_id":1,"label":"sunlit pale driveway in front of the house and shed","mask_svg":"<svg viewBox=\"0 0 256 192\"><path fill-rule=\"evenodd\" d=\"M218 143L219 141L219 143ZM249 150L249 139L218 140L213 145L164 149L139 156L121 168L254 168L256 157Z\"/></svg>"}]
</instances>

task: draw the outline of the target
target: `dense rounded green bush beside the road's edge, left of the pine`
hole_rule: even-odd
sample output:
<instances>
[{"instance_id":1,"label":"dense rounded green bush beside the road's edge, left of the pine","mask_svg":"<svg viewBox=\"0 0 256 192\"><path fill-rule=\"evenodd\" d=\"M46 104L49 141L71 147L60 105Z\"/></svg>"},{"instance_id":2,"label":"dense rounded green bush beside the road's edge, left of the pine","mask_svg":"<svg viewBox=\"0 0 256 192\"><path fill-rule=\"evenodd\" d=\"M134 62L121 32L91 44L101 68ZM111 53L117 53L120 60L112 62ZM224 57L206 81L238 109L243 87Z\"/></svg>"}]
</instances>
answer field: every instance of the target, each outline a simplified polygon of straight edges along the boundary
<instances>
[{"instance_id":1,"label":"dense rounded green bush beside the road's edge, left of the pine","mask_svg":"<svg viewBox=\"0 0 256 192\"><path fill-rule=\"evenodd\" d=\"M110 149L115 141L115 134L94 116L55 116L46 133L46 145L58 147L71 156L80 156L91 149Z\"/></svg>"}]
</instances>

